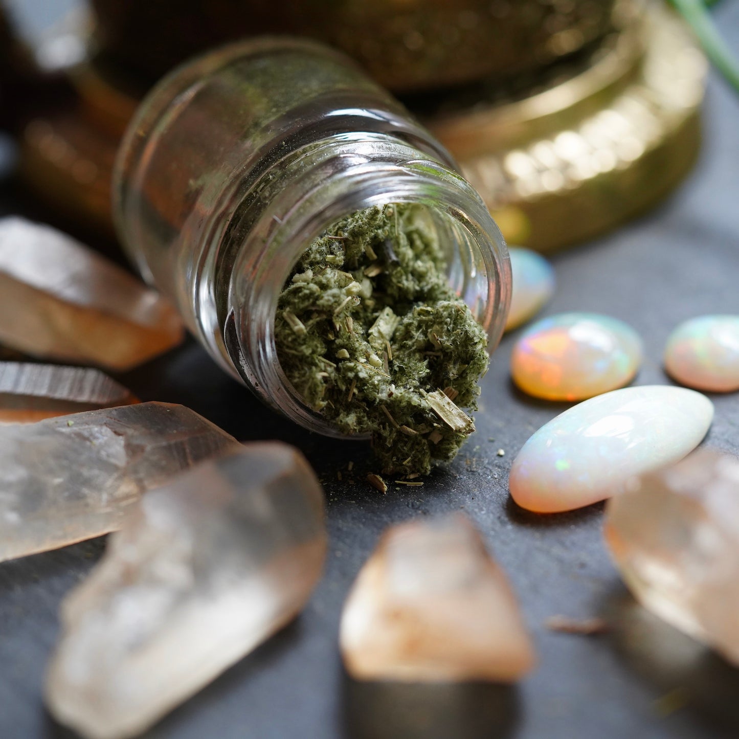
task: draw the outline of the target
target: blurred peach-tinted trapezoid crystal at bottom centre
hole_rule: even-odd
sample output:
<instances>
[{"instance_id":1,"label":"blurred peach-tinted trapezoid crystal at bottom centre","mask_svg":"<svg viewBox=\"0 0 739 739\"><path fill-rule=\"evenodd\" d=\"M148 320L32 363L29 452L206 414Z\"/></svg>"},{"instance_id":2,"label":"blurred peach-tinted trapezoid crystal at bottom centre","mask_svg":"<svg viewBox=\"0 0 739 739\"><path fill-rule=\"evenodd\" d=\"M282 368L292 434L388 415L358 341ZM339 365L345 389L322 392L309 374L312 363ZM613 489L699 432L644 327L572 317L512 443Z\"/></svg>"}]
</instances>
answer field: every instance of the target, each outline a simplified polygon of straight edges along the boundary
<instances>
[{"instance_id":1,"label":"blurred peach-tinted trapezoid crystal at bottom centre","mask_svg":"<svg viewBox=\"0 0 739 739\"><path fill-rule=\"evenodd\" d=\"M386 531L341 619L353 677L515 681L534 652L508 580L461 514Z\"/></svg>"}]
</instances>

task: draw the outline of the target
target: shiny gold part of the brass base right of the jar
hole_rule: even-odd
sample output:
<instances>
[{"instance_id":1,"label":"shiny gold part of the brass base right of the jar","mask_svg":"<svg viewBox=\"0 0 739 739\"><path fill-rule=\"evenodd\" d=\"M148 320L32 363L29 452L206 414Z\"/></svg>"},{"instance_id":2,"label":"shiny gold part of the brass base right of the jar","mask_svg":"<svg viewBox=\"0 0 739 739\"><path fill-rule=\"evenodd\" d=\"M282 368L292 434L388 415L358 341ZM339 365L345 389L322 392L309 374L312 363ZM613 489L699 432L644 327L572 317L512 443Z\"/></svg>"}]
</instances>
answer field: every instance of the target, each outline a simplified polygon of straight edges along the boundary
<instances>
[{"instance_id":1,"label":"shiny gold part of the brass base right of the jar","mask_svg":"<svg viewBox=\"0 0 739 739\"><path fill-rule=\"evenodd\" d=\"M506 239L553 251L644 211L687 174L706 69L682 22L655 3L579 74L425 122Z\"/></svg>"}]
</instances>

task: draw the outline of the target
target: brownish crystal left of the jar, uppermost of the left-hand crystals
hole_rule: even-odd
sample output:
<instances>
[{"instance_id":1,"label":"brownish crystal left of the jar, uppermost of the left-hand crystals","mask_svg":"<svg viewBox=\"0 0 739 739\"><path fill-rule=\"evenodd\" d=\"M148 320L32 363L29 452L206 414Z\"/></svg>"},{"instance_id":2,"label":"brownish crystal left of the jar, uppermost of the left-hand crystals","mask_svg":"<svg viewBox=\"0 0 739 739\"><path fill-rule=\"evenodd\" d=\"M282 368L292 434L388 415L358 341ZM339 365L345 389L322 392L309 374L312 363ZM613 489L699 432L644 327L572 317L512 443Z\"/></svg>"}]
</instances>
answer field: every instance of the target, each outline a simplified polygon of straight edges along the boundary
<instances>
[{"instance_id":1,"label":"brownish crystal left of the jar, uppermost of the left-hand crystals","mask_svg":"<svg viewBox=\"0 0 739 739\"><path fill-rule=\"evenodd\" d=\"M0 341L62 361L129 369L183 338L174 308L61 231L0 219Z\"/></svg>"}]
</instances>

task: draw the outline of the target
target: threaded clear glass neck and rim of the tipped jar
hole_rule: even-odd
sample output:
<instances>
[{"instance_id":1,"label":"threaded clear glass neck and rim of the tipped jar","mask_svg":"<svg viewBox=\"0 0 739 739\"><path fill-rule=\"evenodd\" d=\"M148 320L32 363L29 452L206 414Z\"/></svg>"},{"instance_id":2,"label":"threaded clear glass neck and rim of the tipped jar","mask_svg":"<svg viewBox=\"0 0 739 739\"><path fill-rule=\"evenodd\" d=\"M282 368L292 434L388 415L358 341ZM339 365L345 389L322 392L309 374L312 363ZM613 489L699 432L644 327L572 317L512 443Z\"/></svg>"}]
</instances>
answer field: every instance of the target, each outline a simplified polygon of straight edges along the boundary
<instances>
[{"instance_id":1,"label":"threaded clear glass neck and rim of the tipped jar","mask_svg":"<svg viewBox=\"0 0 739 739\"><path fill-rule=\"evenodd\" d=\"M255 185L258 200L245 197L234 210L214 250L220 268L209 284L222 286L214 296L220 311L213 328L222 327L217 344L223 360L263 401L324 435L340 436L286 381L273 328L279 295L299 256L339 219L395 202L429 208L446 247L452 287L486 329L489 350L502 336L510 299L503 237L466 180L419 153L388 134L341 134L294 151L279 176L273 171L268 183Z\"/></svg>"}]
</instances>

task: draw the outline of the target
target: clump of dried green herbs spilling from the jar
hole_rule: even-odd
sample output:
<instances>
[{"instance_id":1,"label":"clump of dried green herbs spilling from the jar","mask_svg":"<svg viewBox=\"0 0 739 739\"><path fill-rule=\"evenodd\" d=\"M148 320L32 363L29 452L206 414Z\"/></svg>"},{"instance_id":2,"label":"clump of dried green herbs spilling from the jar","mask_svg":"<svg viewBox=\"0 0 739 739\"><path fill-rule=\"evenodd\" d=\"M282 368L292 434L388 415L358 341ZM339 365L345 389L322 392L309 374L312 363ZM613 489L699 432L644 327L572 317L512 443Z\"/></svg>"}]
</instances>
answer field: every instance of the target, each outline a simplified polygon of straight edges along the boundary
<instances>
[{"instance_id":1,"label":"clump of dried green herbs spilling from the jar","mask_svg":"<svg viewBox=\"0 0 739 739\"><path fill-rule=\"evenodd\" d=\"M457 297L428 211L344 218L302 254L279 297L277 354L308 406L372 435L386 474L418 477L474 431L487 336Z\"/></svg>"}]
</instances>

